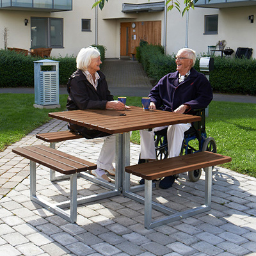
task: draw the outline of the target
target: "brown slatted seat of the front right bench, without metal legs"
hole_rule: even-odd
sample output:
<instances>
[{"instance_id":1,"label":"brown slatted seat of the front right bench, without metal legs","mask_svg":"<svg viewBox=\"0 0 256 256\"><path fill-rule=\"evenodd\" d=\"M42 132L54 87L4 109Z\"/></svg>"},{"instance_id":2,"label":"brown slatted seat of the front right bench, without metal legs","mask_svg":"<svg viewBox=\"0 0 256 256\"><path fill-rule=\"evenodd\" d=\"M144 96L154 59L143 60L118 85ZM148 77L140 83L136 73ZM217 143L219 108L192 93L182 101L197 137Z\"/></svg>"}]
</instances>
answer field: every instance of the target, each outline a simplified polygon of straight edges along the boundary
<instances>
[{"instance_id":1,"label":"brown slatted seat of the front right bench, without metal legs","mask_svg":"<svg viewBox=\"0 0 256 256\"><path fill-rule=\"evenodd\" d=\"M230 161L231 157L204 151L163 159L161 161L126 166L125 172L132 173L143 179L154 180Z\"/></svg>"}]
</instances>

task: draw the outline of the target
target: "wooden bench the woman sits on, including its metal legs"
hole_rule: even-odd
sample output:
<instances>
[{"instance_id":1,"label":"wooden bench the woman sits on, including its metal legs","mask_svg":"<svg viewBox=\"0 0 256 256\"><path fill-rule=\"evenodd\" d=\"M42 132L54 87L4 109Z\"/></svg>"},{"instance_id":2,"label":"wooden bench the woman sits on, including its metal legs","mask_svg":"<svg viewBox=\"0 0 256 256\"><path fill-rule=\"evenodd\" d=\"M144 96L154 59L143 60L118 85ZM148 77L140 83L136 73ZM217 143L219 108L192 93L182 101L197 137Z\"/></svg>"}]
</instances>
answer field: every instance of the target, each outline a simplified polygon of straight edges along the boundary
<instances>
[{"instance_id":1,"label":"wooden bench the woman sits on, including its metal legs","mask_svg":"<svg viewBox=\"0 0 256 256\"><path fill-rule=\"evenodd\" d=\"M84 137L80 134L77 134L75 132L68 130L68 131L59 131L59 132L38 133L36 134L36 138L49 142L50 147L55 148L57 142L65 141L65 140L81 139ZM56 177L55 171L52 169L50 170L51 181L67 179L67 178L68 176L63 177L63 175L61 175L60 177Z\"/></svg>"}]
</instances>

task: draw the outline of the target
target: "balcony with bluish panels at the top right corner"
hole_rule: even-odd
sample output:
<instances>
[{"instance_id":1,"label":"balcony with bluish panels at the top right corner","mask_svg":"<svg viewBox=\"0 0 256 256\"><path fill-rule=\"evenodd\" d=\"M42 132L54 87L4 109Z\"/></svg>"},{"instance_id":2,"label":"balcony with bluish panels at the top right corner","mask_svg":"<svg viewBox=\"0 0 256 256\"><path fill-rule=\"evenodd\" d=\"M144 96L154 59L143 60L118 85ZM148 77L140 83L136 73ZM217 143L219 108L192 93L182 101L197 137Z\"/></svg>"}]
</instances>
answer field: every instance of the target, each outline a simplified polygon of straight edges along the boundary
<instances>
[{"instance_id":1,"label":"balcony with bluish panels at the top right corner","mask_svg":"<svg viewBox=\"0 0 256 256\"><path fill-rule=\"evenodd\" d=\"M196 7L204 8L230 8L256 5L256 0L198 0Z\"/></svg>"}]
</instances>

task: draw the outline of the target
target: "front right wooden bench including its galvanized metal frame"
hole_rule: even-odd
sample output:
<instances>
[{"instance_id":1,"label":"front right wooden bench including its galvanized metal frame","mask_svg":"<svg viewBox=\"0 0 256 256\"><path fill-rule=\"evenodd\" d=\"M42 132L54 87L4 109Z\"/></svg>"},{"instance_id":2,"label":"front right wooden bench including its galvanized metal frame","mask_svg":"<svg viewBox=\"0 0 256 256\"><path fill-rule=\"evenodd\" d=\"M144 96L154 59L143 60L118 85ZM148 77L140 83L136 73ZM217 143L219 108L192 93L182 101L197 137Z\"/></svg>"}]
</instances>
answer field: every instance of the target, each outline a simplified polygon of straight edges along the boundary
<instances>
[{"instance_id":1,"label":"front right wooden bench including its galvanized metal frame","mask_svg":"<svg viewBox=\"0 0 256 256\"><path fill-rule=\"evenodd\" d=\"M145 207L145 228L154 228L159 225L187 218L195 214L209 211L211 209L211 186L212 186L212 166L231 161L231 157L221 156L212 152L198 152L185 156L172 157L150 163L136 164L126 166L125 172L139 176L145 179L145 198L132 193L129 186L125 186L125 196L144 203ZM164 205L152 202L152 180L162 177L189 172L204 168L205 171L205 202L199 207L189 209L183 212L174 211ZM161 220L152 221L152 207L168 214Z\"/></svg>"}]
</instances>

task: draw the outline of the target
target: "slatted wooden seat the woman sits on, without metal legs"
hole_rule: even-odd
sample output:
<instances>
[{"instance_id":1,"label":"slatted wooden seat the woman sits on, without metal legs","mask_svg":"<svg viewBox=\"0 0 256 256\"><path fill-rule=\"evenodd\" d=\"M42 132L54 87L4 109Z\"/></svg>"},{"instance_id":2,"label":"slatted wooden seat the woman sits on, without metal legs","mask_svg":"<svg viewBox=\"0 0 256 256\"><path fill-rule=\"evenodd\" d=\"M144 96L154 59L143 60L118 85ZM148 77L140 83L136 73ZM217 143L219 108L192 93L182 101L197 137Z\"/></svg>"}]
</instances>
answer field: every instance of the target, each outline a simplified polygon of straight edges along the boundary
<instances>
[{"instance_id":1,"label":"slatted wooden seat the woman sits on, without metal legs","mask_svg":"<svg viewBox=\"0 0 256 256\"><path fill-rule=\"evenodd\" d=\"M68 130L68 131L60 131L60 132L38 133L36 134L36 138L47 141L47 142L59 142L64 140L79 139L79 138L83 138L83 136Z\"/></svg>"}]
</instances>

